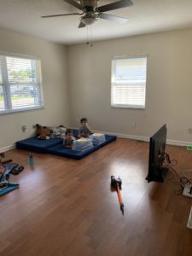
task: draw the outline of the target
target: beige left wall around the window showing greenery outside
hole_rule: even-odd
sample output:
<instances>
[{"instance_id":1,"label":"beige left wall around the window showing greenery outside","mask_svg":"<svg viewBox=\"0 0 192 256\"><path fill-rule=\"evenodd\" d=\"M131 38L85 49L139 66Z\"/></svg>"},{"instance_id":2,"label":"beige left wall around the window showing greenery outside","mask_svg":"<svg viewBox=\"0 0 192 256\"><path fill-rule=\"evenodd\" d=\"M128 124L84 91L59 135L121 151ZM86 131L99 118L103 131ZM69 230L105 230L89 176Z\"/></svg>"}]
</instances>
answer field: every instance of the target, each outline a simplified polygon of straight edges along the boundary
<instances>
[{"instance_id":1,"label":"beige left wall around the window showing greenery outside","mask_svg":"<svg viewBox=\"0 0 192 256\"><path fill-rule=\"evenodd\" d=\"M0 30L0 38L1 51L40 57L44 90L44 109L0 115L0 148L6 149L32 136L34 124L69 125L67 48L15 32Z\"/></svg>"}]
</instances>

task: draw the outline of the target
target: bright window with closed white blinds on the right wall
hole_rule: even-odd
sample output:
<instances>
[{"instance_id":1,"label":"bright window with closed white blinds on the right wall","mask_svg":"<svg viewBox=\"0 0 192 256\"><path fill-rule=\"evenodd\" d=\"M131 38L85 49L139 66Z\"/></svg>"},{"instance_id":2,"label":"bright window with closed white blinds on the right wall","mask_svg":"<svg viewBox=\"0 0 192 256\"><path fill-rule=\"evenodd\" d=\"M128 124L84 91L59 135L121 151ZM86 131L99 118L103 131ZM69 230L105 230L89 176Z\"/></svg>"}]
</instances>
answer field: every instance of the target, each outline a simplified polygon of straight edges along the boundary
<instances>
[{"instance_id":1,"label":"bright window with closed white blinds on the right wall","mask_svg":"<svg viewBox=\"0 0 192 256\"><path fill-rule=\"evenodd\" d=\"M111 106L145 108L147 57L112 60Z\"/></svg>"}]
</instances>

